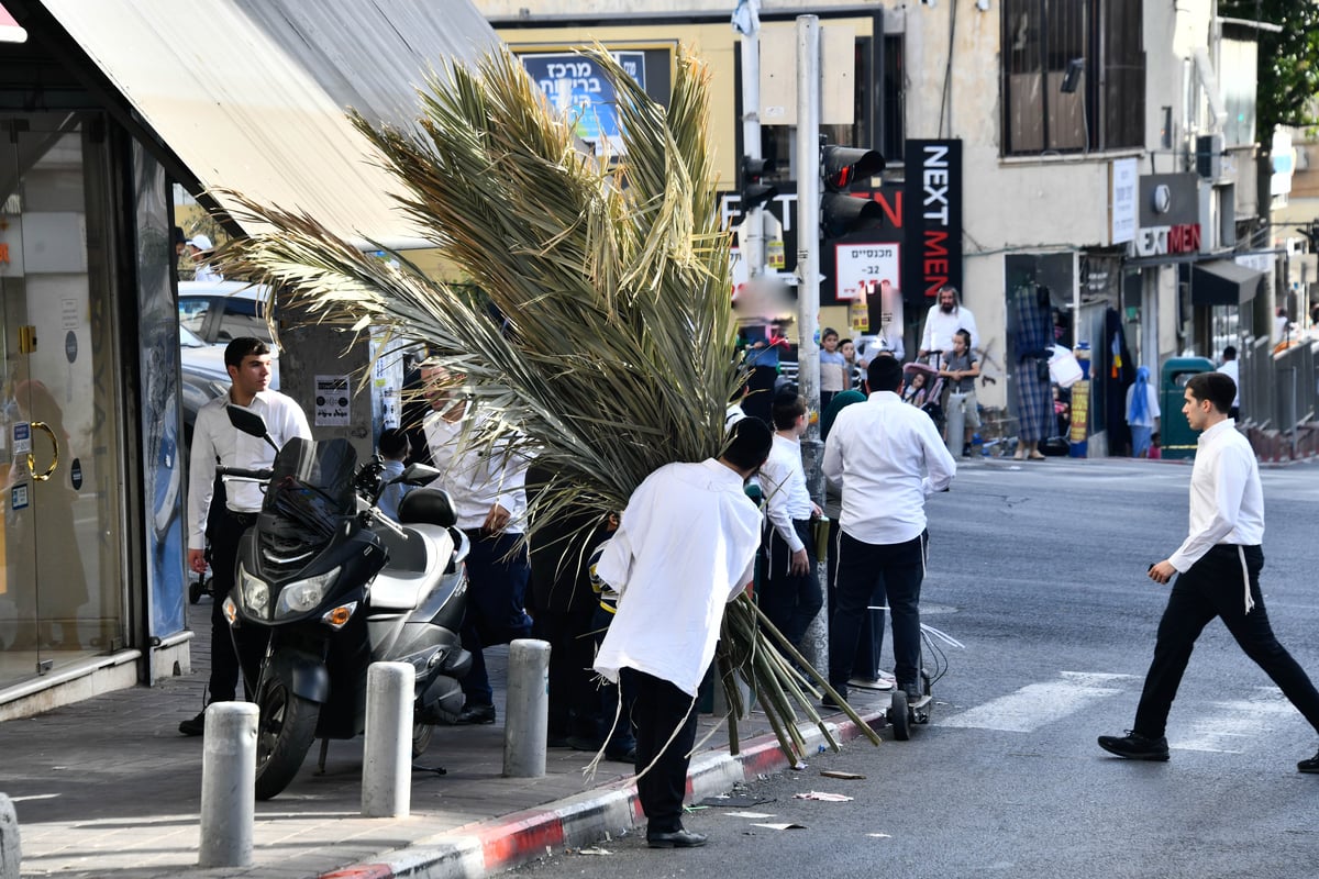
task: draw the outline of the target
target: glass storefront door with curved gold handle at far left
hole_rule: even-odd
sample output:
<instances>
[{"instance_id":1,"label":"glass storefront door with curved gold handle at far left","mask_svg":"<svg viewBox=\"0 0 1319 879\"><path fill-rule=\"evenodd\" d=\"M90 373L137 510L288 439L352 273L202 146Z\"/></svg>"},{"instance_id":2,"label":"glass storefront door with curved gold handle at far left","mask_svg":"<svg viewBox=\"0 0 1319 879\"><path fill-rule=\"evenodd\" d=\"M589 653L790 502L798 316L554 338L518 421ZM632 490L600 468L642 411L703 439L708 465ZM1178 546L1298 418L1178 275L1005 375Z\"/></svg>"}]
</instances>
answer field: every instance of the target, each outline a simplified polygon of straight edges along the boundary
<instances>
[{"instance_id":1,"label":"glass storefront door with curved gold handle at far left","mask_svg":"<svg viewBox=\"0 0 1319 879\"><path fill-rule=\"evenodd\" d=\"M0 688L124 634L115 320L106 217L88 216L103 204L87 198L103 177L88 167L102 159L91 128L78 113L0 116Z\"/></svg>"}]
</instances>

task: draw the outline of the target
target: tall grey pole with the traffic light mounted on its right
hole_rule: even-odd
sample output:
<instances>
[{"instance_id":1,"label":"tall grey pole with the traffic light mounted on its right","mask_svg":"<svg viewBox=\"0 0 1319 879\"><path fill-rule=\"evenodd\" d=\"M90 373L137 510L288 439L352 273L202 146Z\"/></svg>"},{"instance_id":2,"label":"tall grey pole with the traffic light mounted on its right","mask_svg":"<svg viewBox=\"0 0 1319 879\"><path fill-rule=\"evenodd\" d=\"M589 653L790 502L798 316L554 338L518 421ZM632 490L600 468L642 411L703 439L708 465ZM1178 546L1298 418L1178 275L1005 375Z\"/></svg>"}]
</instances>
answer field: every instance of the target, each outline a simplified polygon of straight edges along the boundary
<instances>
[{"instance_id":1,"label":"tall grey pole with the traffic light mounted on its right","mask_svg":"<svg viewBox=\"0 0 1319 879\"><path fill-rule=\"evenodd\" d=\"M820 22L797 16L797 382L810 412L802 467L811 499L824 505L820 441Z\"/></svg>"}]
</instances>

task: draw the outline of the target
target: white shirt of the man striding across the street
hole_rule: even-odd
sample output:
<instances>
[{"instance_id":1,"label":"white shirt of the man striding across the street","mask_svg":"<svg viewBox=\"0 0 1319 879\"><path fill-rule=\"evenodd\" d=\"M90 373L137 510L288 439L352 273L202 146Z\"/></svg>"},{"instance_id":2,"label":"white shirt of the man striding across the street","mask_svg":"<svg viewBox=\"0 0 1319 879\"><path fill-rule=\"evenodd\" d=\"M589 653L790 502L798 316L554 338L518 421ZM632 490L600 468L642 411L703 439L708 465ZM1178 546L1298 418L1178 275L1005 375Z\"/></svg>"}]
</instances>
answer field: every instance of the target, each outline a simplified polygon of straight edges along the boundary
<instances>
[{"instance_id":1,"label":"white shirt of the man striding across the street","mask_svg":"<svg viewBox=\"0 0 1319 879\"><path fill-rule=\"evenodd\" d=\"M1264 489L1250 443L1224 419L1200 434L1191 470L1191 527L1169 557L1186 572L1216 543L1264 542Z\"/></svg>"}]
</instances>

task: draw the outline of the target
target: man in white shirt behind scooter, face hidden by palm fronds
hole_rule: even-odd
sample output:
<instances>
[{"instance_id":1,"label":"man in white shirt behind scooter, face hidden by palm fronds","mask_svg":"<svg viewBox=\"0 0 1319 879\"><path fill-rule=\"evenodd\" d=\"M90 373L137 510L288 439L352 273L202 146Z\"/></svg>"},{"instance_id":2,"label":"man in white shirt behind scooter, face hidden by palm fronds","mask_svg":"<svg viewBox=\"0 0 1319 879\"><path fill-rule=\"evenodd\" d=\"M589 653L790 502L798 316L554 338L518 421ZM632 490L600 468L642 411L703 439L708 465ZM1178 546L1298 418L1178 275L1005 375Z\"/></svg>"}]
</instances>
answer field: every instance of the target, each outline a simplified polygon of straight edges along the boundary
<instances>
[{"instance_id":1,"label":"man in white shirt behind scooter, face hidden by palm fronds","mask_svg":"<svg viewBox=\"0 0 1319 879\"><path fill-rule=\"evenodd\" d=\"M474 443L491 416L470 411L459 387L462 377L438 362L423 362L421 380L431 412L422 423L426 455L419 457L443 470L434 485L448 492L455 526L471 543L462 639L463 650L472 655L472 669L462 681L466 700L455 722L493 723L495 693L481 647L532 634L525 610L530 565L526 550L518 548L526 515L526 460L488 453Z\"/></svg>"}]
</instances>

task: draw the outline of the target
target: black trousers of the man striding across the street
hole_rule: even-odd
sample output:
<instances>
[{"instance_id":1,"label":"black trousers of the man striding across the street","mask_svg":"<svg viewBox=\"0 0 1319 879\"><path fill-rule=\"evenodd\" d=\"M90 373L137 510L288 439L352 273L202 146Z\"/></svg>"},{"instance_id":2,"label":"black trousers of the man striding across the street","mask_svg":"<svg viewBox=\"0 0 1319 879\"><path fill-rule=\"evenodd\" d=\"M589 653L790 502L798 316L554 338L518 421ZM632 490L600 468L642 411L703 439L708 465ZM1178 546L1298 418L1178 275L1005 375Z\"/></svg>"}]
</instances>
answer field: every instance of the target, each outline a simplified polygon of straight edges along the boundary
<instances>
[{"instance_id":1,"label":"black trousers of the man striding across the street","mask_svg":"<svg viewBox=\"0 0 1319 879\"><path fill-rule=\"evenodd\" d=\"M1177 688L1191 660L1195 640L1215 617L1223 618L1245 655L1265 671L1310 725L1319 730L1319 692L1310 677L1278 643L1269 625L1260 593L1260 569L1264 552L1260 547L1241 547L1249 572L1250 597L1254 608L1245 611L1245 584L1236 546L1219 544L1173 582L1167 608L1158 625L1154 662L1145 676L1145 689L1136 709L1134 730L1159 738L1167 727L1167 714L1177 697Z\"/></svg>"}]
</instances>

